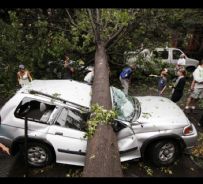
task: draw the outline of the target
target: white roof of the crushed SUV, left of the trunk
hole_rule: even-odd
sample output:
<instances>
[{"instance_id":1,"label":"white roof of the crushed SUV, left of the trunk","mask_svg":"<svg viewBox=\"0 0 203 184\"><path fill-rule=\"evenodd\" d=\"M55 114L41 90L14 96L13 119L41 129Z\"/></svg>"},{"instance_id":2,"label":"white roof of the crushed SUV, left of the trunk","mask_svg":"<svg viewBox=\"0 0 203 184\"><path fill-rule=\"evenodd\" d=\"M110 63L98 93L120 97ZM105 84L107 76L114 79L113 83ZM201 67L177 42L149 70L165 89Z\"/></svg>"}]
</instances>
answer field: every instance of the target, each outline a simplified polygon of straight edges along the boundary
<instances>
[{"instance_id":1,"label":"white roof of the crushed SUV, left of the trunk","mask_svg":"<svg viewBox=\"0 0 203 184\"><path fill-rule=\"evenodd\" d=\"M90 107L92 88L84 82L74 80L33 80L19 90L19 93L38 91L51 96L57 96L68 102Z\"/></svg>"}]
</instances>

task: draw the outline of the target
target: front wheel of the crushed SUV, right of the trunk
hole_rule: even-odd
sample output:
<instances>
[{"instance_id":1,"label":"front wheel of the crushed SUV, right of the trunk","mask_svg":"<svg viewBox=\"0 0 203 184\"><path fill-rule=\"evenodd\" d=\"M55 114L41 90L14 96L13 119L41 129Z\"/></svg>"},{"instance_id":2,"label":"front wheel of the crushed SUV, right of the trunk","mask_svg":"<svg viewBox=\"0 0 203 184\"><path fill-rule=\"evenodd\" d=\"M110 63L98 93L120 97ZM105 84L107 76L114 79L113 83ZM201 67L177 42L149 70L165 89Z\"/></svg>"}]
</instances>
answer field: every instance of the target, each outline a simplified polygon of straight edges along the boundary
<instances>
[{"instance_id":1,"label":"front wheel of the crushed SUV, right of the trunk","mask_svg":"<svg viewBox=\"0 0 203 184\"><path fill-rule=\"evenodd\" d=\"M179 145L172 140L158 141L150 146L150 161L155 166L172 164L180 153Z\"/></svg>"}]
</instances>

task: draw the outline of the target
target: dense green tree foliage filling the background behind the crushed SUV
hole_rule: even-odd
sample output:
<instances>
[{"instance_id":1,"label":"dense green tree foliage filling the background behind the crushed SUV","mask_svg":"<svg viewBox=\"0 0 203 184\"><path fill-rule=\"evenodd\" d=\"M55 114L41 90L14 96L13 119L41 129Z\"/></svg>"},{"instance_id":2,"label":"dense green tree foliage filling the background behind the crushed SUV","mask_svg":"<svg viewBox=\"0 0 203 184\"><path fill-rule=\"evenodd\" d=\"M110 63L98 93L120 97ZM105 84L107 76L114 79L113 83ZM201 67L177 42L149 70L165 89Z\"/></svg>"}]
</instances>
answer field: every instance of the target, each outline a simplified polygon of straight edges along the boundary
<instances>
[{"instance_id":1,"label":"dense green tree foliage filling the background behind the crushed SUV","mask_svg":"<svg viewBox=\"0 0 203 184\"><path fill-rule=\"evenodd\" d=\"M107 41L113 33L124 28L122 34L106 48L116 77L123 67L123 53L139 49L141 43L145 48L153 49L172 46L177 38L178 47L185 50L193 33L201 39L203 14L200 9L99 11L102 40ZM62 75L64 53L76 63L82 60L85 66L94 60L95 38L87 9L1 9L0 33L0 84L4 85L4 91L16 88L16 72L20 63L31 71L34 79L50 79ZM56 64L50 66L50 61ZM159 62L154 62L156 65L148 63L149 71L144 73L158 72L154 69L159 70ZM140 63L144 61L140 59ZM76 65L76 70L79 67ZM58 73L61 73L60 76ZM76 79L78 74L81 72L75 75ZM143 71L136 75L146 78Z\"/></svg>"}]
</instances>

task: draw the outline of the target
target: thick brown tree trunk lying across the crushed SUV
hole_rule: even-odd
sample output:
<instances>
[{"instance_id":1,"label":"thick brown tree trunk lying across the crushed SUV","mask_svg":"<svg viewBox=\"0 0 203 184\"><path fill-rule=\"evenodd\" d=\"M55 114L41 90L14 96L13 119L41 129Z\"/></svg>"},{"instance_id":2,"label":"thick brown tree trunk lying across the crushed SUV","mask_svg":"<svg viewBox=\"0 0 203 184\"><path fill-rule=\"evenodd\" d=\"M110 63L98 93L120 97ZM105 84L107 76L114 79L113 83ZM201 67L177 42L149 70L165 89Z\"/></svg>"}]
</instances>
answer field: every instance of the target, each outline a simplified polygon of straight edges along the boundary
<instances>
[{"instance_id":1,"label":"thick brown tree trunk lying across the crushed SUV","mask_svg":"<svg viewBox=\"0 0 203 184\"><path fill-rule=\"evenodd\" d=\"M112 108L109 88L109 69L103 44L97 44L92 104L105 109ZM84 177L122 177L117 137L110 125L99 125L94 136L88 140Z\"/></svg>"}]
</instances>

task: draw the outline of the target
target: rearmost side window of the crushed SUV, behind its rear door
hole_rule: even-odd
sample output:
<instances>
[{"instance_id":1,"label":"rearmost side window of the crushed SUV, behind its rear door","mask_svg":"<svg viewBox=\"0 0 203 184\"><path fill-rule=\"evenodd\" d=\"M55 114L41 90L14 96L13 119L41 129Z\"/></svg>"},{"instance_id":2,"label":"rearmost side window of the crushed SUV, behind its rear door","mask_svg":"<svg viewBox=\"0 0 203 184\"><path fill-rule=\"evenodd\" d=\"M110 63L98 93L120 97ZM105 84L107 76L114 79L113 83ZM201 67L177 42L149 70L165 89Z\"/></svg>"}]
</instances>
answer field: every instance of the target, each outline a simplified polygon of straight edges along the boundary
<instances>
[{"instance_id":1,"label":"rearmost side window of the crushed SUV, behind its rear door","mask_svg":"<svg viewBox=\"0 0 203 184\"><path fill-rule=\"evenodd\" d=\"M28 117L28 120L49 123L49 118L54 117L52 112L55 109L55 105L50 105L35 99L24 98L18 107L16 108L14 115L17 118Z\"/></svg>"}]
</instances>

